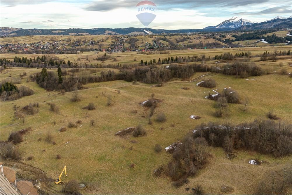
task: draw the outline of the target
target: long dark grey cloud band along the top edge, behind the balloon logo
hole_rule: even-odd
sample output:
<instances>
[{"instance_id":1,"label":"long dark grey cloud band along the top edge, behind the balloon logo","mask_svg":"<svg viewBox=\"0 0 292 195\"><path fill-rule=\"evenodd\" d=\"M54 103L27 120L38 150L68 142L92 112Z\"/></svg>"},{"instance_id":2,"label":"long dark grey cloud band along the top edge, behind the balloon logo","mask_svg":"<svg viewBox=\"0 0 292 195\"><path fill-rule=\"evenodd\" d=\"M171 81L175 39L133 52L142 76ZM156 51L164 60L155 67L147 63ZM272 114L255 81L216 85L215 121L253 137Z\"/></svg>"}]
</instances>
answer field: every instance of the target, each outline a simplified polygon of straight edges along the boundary
<instances>
[{"instance_id":1,"label":"long dark grey cloud band along the top edge, behind the balloon logo","mask_svg":"<svg viewBox=\"0 0 292 195\"><path fill-rule=\"evenodd\" d=\"M211 7L238 7L250 4L266 3L270 0L156 0L153 1L161 10L172 8L192 9L203 6ZM84 7L87 11L111 11L116 8L135 8L137 0L97 0Z\"/></svg>"}]
</instances>

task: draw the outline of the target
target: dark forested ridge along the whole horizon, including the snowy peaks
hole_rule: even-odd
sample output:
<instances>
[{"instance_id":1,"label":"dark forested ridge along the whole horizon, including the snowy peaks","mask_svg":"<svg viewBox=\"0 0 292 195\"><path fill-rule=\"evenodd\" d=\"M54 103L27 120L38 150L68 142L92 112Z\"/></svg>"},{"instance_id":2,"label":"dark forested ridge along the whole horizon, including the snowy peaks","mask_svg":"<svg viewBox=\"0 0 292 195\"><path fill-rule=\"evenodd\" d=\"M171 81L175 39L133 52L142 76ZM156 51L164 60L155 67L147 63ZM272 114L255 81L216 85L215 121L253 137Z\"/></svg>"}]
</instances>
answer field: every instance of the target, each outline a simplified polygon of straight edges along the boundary
<instances>
[{"instance_id":1,"label":"dark forested ridge along the whole horizon, including the snowy peaks","mask_svg":"<svg viewBox=\"0 0 292 195\"><path fill-rule=\"evenodd\" d=\"M229 20L225 20L217 26L209 26L204 29L178 29L178 30L166 30L166 29L152 29L152 28L69 28L69 29L22 29L22 28L10 28L0 27L1 36L27 36L27 35L85 35L85 34L170 34L170 33L192 33L192 32L224 32L224 31L236 31L236 30L265 30L265 29L280 29L280 28L292 28L292 18L277 18L268 20L262 23L252 23L249 20L232 17Z\"/></svg>"}]
</instances>

